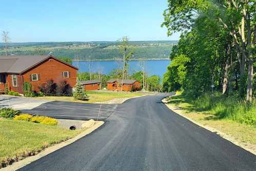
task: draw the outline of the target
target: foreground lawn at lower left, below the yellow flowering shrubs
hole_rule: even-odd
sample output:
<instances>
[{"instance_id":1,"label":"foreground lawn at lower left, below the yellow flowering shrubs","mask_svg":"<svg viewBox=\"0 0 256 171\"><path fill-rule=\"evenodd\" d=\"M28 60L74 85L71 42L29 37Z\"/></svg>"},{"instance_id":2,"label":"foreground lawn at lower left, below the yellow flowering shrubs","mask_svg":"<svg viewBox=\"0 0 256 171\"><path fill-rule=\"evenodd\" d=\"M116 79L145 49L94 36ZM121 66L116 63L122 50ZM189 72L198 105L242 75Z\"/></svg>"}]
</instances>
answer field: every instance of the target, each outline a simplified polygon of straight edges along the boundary
<instances>
[{"instance_id":1,"label":"foreground lawn at lower left, below the yellow flowering shrubs","mask_svg":"<svg viewBox=\"0 0 256 171\"><path fill-rule=\"evenodd\" d=\"M70 139L83 130L0 118L0 168Z\"/></svg>"}]
</instances>

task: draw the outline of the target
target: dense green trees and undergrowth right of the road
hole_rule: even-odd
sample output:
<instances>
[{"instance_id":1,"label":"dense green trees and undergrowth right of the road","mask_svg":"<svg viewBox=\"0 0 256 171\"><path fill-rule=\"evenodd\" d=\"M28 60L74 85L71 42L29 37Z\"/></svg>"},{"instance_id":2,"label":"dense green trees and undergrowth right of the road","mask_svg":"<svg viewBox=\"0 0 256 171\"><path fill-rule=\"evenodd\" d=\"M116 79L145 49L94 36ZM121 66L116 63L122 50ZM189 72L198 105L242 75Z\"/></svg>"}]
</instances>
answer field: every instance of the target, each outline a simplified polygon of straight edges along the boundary
<instances>
[{"instance_id":1,"label":"dense green trees and undergrowth right of the road","mask_svg":"<svg viewBox=\"0 0 256 171\"><path fill-rule=\"evenodd\" d=\"M169 1L168 34L183 31L172 48L163 90L184 90L198 110L216 119L256 125L255 1Z\"/></svg>"}]
</instances>

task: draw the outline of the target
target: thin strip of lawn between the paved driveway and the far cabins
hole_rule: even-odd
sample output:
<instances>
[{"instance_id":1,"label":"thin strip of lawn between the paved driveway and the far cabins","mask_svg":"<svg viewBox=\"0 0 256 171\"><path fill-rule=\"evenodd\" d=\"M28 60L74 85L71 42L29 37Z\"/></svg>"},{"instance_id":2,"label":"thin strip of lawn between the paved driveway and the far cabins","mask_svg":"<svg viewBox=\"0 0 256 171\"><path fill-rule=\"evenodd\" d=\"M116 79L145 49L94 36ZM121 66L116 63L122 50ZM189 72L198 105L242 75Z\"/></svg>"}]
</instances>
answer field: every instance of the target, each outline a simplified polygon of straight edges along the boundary
<instances>
[{"instance_id":1,"label":"thin strip of lawn between the paved driveway and the far cabins","mask_svg":"<svg viewBox=\"0 0 256 171\"><path fill-rule=\"evenodd\" d=\"M99 92L99 91L86 91L88 99L77 100L74 97L64 97L64 96L45 96L45 97L35 97L36 99L47 99L47 100L56 100L56 101L70 101L70 102L82 102L82 103L95 103L102 101L109 101L115 98L131 98L136 96L143 96L146 94L143 93L113 93L113 92Z\"/></svg>"}]
</instances>

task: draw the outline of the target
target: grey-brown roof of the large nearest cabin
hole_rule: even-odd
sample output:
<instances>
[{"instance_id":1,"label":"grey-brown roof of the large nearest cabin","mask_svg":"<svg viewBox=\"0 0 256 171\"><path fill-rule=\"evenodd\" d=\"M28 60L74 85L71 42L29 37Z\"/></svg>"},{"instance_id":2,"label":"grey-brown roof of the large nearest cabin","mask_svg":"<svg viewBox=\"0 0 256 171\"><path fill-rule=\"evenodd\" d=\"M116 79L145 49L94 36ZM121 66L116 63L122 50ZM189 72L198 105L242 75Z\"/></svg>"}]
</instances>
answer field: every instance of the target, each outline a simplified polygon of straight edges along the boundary
<instances>
[{"instance_id":1,"label":"grey-brown roof of the large nearest cabin","mask_svg":"<svg viewBox=\"0 0 256 171\"><path fill-rule=\"evenodd\" d=\"M21 74L22 72L26 71L27 69L35 66L37 63L44 61L48 57L53 57L53 56L50 56L50 55L0 56L0 73ZM59 59L57 59L57 60L59 60ZM66 63L66 62L64 62L64 63ZM66 63L66 64L69 65L68 63ZM71 65L69 65L69 66L71 66ZM75 68L75 67L73 67L73 68Z\"/></svg>"}]
</instances>

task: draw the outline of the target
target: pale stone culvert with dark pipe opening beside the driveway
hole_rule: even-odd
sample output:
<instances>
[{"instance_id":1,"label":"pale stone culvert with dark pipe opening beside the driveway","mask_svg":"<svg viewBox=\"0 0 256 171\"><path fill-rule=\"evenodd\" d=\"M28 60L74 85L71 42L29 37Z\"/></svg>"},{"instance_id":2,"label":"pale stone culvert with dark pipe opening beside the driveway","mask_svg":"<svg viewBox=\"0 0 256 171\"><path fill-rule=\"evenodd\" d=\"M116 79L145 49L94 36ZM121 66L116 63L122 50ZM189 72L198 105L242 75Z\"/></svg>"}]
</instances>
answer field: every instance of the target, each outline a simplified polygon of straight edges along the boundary
<instances>
[{"instance_id":1,"label":"pale stone culvert with dark pipe opening beside the driveway","mask_svg":"<svg viewBox=\"0 0 256 171\"><path fill-rule=\"evenodd\" d=\"M95 124L93 119L85 120L70 120L70 119L57 119L58 126L64 127L69 130L80 130L83 127L89 128Z\"/></svg>"}]
</instances>

